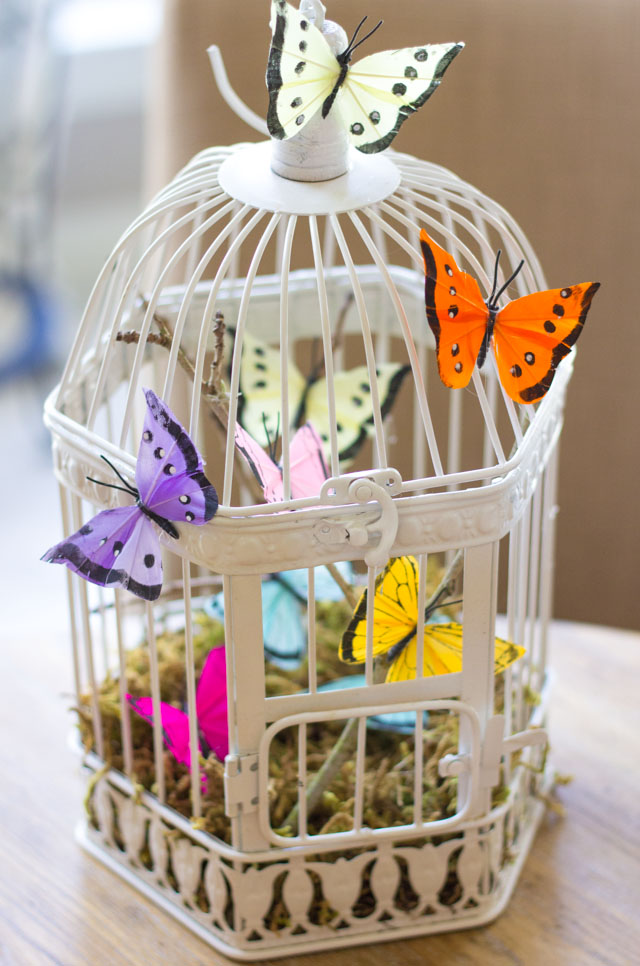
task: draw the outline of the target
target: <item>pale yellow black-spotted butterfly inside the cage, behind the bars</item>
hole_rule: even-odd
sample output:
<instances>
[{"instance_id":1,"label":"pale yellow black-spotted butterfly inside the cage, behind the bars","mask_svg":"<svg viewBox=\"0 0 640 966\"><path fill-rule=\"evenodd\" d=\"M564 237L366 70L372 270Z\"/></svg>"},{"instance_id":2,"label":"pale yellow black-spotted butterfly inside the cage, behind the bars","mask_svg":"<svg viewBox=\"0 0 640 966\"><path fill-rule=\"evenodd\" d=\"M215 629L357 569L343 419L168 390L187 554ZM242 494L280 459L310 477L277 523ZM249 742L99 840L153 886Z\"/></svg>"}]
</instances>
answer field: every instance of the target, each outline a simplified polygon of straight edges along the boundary
<instances>
[{"instance_id":1,"label":"pale yellow black-spotted butterfly inside the cage, behind the bars","mask_svg":"<svg viewBox=\"0 0 640 966\"><path fill-rule=\"evenodd\" d=\"M387 415L410 366L379 363L376 369L381 414ZM330 456L327 380L305 379L289 361L289 419L292 427L310 422ZM271 449L281 428L280 351L245 332L240 362L240 424L265 449ZM336 402L336 435L340 460L356 455L373 426L371 386L366 366L356 366L333 377Z\"/></svg>"}]
</instances>

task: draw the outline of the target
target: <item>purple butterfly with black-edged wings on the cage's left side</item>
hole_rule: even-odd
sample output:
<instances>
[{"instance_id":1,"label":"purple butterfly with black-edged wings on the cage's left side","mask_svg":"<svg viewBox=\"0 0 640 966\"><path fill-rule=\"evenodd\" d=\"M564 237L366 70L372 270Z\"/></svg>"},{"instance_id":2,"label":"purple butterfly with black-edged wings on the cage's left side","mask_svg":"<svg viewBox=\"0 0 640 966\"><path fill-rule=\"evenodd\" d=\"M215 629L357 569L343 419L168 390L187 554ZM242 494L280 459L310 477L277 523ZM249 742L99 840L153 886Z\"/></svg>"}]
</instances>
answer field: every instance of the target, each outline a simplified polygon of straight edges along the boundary
<instances>
[{"instance_id":1,"label":"purple butterfly with black-edged wings on the cage's left side","mask_svg":"<svg viewBox=\"0 0 640 966\"><path fill-rule=\"evenodd\" d=\"M136 502L102 510L47 550L42 560L63 563L101 587L113 584L143 600L156 600L162 590L162 559L154 524L178 539L172 521L202 526L218 509L218 496L202 472L202 457L169 407L151 389L144 394L147 413L136 463L137 488L102 457L124 487L103 485L129 493Z\"/></svg>"}]
</instances>

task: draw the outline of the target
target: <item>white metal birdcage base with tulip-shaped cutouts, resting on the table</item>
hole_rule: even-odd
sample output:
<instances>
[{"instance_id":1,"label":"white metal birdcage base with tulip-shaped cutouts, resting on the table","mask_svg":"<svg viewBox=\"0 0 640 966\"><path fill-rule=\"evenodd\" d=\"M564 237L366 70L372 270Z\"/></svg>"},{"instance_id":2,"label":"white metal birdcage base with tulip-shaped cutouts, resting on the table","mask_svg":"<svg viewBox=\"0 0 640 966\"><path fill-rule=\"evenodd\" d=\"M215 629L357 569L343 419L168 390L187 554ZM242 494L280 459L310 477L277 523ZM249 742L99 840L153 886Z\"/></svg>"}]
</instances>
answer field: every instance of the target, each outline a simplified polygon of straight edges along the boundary
<instances>
[{"instance_id":1,"label":"white metal birdcage base with tulip-shaped cutouts, resting on the table","mask_svg":"<svg viewBox=\"0 0 640 966\"><path fill-rule=\"evenodd\" d=\"M238 853L116 772L92 792L79 843L212 947L260 960L469 929L505 909L544 812L551 769L521 769L506 803L456 836L351 853ZM267 860L268 856L268 860ZM253 859L253 856L251 856Z\"/></svg>"}]
</instances>

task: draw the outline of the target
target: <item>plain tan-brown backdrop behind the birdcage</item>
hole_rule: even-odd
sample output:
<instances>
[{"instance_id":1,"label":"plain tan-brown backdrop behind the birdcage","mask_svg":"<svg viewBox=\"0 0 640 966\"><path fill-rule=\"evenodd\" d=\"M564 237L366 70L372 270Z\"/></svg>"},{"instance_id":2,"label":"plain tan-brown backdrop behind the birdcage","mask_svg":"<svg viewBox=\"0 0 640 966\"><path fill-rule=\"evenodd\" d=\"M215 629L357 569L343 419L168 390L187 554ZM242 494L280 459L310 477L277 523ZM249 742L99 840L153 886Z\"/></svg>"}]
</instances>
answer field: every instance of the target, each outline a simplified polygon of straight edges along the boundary
<instances>
[{"instance_id":1,"label":"plain tan-brown backdrop behind the birdcage","mask_svg":"<svg viewBox=\"0 0 640 966\"><path fill-rule=\"evenodd\" d=\"M501 202L550 285L596 279L576 360L560 474L555 613L640 627L640 3L638 0L329 0L349 32L385 18L375 49L464 40L396 146ZM223 50L264 113L268 0L167 0L148 136L149 186L210 144L256 140L213 83ZM373 43L373 41L372 41Z\"/></svg>"}]
</instances>

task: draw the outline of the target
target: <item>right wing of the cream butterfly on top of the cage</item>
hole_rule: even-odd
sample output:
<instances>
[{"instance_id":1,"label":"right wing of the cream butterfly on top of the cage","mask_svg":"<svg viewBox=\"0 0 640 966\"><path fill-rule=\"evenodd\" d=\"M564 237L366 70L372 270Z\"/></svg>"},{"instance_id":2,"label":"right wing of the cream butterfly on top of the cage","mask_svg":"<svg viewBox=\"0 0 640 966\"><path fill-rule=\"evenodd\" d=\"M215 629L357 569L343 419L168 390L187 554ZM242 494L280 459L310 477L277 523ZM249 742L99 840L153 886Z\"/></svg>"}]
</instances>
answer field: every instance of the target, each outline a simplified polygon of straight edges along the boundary
<instances>
[{"instance_id":1,"label":"right wing of the cream butterfly on top of the cage","mask_svg":"<svg viewBox=\"0 0 640 966\"><path fill-rule=\"evenodd\" d=\"M431 97L464 44L426 44L363 57L338 95L351 143L365 154L388 148L401 124Z\"/></svg>"}]
</instances>

